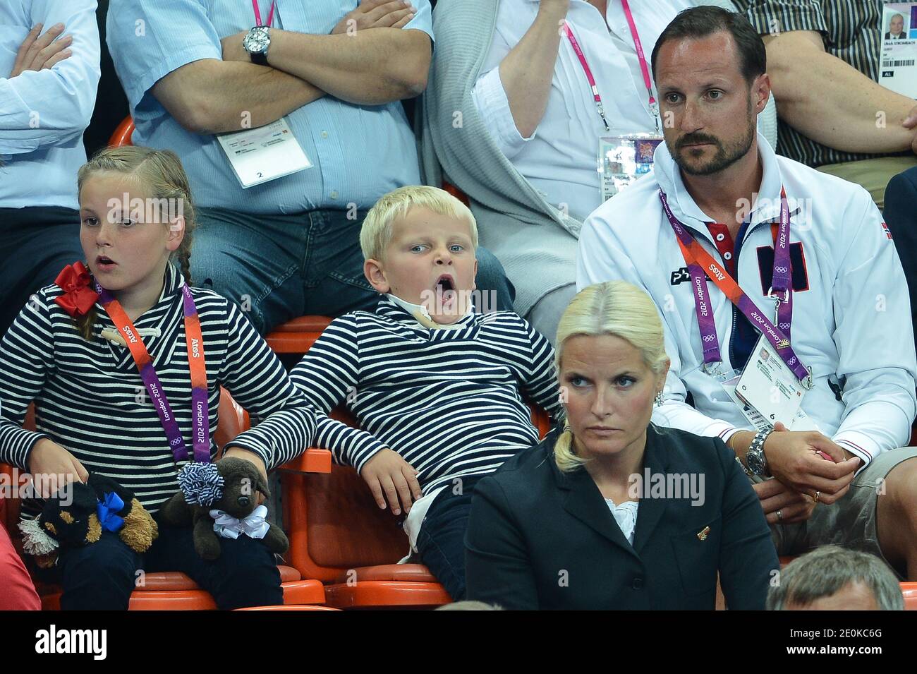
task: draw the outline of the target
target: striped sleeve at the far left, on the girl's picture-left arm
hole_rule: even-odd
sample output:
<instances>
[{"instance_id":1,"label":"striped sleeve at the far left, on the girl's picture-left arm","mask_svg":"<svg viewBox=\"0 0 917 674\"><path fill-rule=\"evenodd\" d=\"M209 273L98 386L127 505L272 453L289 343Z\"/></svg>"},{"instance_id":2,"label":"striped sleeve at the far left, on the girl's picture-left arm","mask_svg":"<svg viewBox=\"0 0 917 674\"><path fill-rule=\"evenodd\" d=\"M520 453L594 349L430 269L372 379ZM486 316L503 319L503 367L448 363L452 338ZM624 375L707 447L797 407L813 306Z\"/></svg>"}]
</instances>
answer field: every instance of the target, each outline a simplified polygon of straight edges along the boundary
<instances>
[{"instance_id":1,"label":"striped sleeve at the far left, on the girl's picture-left arm","mask_svg":"<svg viewBox=\"0 0 917 674\"><path fill-rule=\"evenodd\" d=\"M54 367L47 295L32 295L0 342L0 462L28 470L28 453L43 433L22 427L28 405Z\"/></svg>"}]
</instances>

